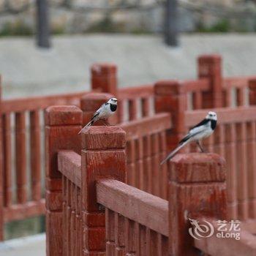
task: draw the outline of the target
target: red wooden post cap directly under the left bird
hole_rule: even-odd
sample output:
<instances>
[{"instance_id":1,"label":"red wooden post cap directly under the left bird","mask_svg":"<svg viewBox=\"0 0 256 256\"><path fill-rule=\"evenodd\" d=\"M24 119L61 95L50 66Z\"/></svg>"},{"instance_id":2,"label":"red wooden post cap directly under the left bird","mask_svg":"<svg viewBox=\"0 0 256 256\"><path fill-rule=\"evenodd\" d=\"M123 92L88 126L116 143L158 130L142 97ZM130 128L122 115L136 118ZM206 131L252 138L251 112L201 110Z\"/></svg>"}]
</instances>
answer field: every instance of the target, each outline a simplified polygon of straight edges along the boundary
<instances>
[{"instance_id":1,"label":"red wooden post cap directly under the left bird","mask_svg":"<svg viewBox=\"0 0 256 256\"><path fill-rule=\"evenodd\" d=\"M81 135L82 147L91 149L122 149L125 148L125 132L120 127L89 127Z\"/></svg>"}]
</instances>

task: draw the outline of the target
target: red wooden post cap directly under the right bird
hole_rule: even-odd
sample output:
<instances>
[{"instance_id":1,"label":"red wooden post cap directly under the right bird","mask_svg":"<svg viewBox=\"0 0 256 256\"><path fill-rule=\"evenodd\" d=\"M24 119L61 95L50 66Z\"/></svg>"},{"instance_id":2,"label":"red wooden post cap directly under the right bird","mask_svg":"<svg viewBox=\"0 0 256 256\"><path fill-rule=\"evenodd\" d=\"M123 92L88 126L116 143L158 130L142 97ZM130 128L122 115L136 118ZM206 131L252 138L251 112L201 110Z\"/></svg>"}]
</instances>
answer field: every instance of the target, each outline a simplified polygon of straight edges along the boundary
<instances>
[{"instance_id":1,"label":"red wooden post cap directly under the right bird","mask_svg":"<svg viewBox=\"0 0 256 256\"><path fill-rule=\"evenodd\" d=\"M225 159L218 154L177 154L170 161L170 180L178 183L225 181Z\"/></svg>"}]
</instances>

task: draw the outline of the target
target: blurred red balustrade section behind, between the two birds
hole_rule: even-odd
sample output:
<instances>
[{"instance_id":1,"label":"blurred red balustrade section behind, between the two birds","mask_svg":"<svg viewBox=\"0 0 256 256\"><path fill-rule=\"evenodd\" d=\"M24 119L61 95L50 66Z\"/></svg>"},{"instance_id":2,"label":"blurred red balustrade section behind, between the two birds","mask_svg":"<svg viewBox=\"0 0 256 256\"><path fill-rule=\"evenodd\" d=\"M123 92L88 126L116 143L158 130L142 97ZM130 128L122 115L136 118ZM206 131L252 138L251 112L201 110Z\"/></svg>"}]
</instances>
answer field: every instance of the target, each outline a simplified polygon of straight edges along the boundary
<instances>
[{"instance_id":1,"label":"blurred red balustrade section behind, between the two birds","mask_svg":"<svg viewBox=\"0 0 256 256\"><path fill-rule=\"evenodd\" d=\"M121 124L127 132L127 184L164 199L167 165L159 171L159 163L167 154L165 133L170 127L168 113Z\"/></svg>"}]
</instances>

